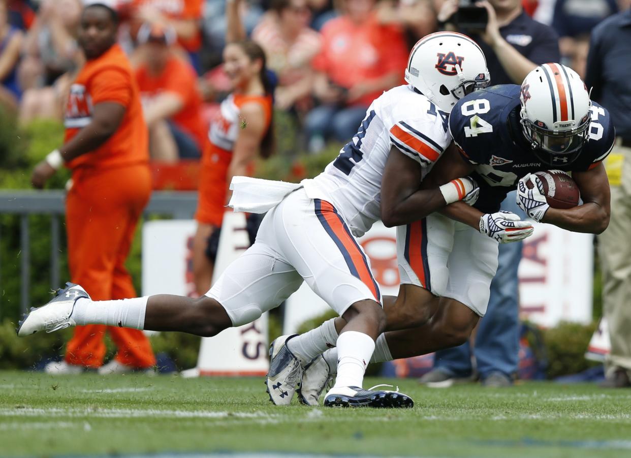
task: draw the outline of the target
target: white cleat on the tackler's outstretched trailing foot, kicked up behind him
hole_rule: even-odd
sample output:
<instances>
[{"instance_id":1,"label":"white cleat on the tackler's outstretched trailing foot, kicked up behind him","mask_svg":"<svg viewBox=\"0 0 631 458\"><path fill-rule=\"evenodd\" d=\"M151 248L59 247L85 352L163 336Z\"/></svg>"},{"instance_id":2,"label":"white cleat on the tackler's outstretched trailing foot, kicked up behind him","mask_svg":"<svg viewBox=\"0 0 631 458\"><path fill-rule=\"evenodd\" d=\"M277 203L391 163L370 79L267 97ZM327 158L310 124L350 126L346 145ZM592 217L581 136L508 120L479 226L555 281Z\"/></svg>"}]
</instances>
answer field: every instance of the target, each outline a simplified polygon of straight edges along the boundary
<instances>
[{"instance_id":1,"label":"white cleat on the tackler's outstretched trailing foot, kicked up behind him","mask_svg":"<svg viewBox=\"0 0 631 458\"><path fill-rule=\"evenodd\" d=\"M76 323L70 317L77 299L88 298L90 295L81 286L66 283L66 288L57 289L55 297L49 303L39 308L31 308L30 313L23 316L18 323L16 332L20 337L35 334L37 331L53 332Z\"/></svg>"}]
</instances>

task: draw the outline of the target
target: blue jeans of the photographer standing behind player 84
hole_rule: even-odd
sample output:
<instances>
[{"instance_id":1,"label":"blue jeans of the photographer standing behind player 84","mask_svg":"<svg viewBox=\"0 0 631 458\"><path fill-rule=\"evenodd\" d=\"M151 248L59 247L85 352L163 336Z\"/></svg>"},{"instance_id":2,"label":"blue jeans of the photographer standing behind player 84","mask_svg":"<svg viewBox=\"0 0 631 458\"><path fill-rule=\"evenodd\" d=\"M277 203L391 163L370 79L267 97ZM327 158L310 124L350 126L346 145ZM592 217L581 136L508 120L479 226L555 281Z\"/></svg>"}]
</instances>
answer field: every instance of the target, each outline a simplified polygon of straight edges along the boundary
<instances>
[{"instance_id":1,"label":"blue jeans of the photographer standing behind player 84","mask_svg":"<svg viewBox=\"0 0 631 458\"><path fill-rule=\"evenodd\" d=\"M502 210L525 217L517 207L515 192L502 202ZM517 267L521 261L522 242L500 244L497 274L491 282L491 296L487 315L481 318L475 337L473 356L480 378L493 372L507 377L517 371L519 364L519 292ZM437 351L434 368L455 377L468 377L473 372L469 342L459 347Z\"/></svg>"}]
</instances>

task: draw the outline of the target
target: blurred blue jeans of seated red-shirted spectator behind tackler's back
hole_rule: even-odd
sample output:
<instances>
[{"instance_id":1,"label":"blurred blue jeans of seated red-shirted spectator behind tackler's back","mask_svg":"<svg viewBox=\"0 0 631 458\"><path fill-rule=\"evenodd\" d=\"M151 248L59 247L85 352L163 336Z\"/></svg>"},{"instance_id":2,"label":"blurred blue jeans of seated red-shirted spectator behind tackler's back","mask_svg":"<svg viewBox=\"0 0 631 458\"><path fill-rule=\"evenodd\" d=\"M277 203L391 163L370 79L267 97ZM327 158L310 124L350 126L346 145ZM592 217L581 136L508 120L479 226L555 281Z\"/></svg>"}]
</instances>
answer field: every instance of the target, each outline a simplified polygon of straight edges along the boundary
<instances>
[{"instance_id":1,"label":"blurred blue jeans of seated red-shirted spectator behind tackler's back","mask_svg":"<svg viewBox=\"0 0 631 458\"><path fill-rule=\"evenodd\" d=\"M334 138L338 142L349 142L357 133L363 118L364 106L344 107L340 105L320 105L312 109L305 119L305 132L309 142L314 136L324 139Z\"/></svg>"}]
</instances>

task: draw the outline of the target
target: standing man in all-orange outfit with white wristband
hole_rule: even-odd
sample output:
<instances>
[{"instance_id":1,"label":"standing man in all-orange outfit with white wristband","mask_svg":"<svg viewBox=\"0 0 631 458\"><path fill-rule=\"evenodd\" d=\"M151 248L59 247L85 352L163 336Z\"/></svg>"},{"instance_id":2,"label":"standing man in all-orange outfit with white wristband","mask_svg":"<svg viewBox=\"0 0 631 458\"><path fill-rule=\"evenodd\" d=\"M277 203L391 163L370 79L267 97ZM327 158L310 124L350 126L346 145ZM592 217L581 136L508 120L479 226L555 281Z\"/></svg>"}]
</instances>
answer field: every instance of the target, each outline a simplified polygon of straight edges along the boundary
<instances>
[{"instance_id":1,"label":"standing man in all-orange outfit with white wristband","mask_svg":"<svg viewBox=\"0 0 631 458\"><path fill-rule=\"evenodd\" d=\"M76 76L66 106L66 138L35 167L42 188L62 165L72 171L66 198L68 262L72 281L101 299L133 298L125 260L136 224L149 200L147 128L131 65L116 44L117 16L105 0L81 13L79 41L86 64ZM103 335L118 347L99 373L122 373L155 365L142 331L88 325L76 327L62 363L50 373L78 373L103 363Z\"/></svg>"}]
</instances>

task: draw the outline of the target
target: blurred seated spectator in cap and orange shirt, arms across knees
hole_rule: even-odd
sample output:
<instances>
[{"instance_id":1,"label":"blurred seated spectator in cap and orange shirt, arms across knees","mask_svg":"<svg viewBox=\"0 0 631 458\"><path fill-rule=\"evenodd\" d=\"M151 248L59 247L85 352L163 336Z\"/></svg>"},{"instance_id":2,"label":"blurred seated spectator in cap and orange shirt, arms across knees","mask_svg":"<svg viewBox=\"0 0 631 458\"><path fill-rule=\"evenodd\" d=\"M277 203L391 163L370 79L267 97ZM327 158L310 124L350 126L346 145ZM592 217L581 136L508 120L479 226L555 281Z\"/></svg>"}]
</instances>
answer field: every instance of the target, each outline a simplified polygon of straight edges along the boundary
<instances>
[{"instance_id":1,"label":"blurred seated spectator in cap and orange shirt, arms across knees","mask_svg":"<svg viewBox=\"0 0 631 458\"><path fill-rule=\"evenodd\" d=\"M201 116L197 77L191 64L175 56L172 28L143 25L138 41L145 47L136 81L149 128L152 159L175 162L199 159L208 143Z\"/></svg>"}]
</instances>

